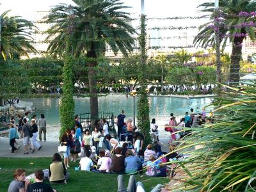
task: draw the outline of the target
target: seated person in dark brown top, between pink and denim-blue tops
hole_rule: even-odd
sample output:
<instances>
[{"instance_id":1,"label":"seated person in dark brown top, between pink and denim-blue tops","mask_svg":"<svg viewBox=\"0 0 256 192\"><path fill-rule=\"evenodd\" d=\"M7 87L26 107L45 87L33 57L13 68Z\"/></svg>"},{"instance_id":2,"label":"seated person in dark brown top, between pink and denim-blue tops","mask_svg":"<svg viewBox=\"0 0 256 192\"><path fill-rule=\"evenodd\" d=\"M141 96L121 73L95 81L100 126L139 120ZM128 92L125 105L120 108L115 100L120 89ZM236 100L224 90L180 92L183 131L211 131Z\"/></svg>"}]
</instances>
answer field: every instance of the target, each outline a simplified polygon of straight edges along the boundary
<instances>
[{"instance_id":1,"label":"seated person in dark brown top, between pink and denim-blue tops","mask_svg":"<svg viewBox=\"0 0 256 192\"><path fill-rule=\"evenodd\" d=\"M125 156L122 156L122 147L116 147L115 154L112 157L111 173L124 174L124 159Z\"/></svg>"}]
</instances>

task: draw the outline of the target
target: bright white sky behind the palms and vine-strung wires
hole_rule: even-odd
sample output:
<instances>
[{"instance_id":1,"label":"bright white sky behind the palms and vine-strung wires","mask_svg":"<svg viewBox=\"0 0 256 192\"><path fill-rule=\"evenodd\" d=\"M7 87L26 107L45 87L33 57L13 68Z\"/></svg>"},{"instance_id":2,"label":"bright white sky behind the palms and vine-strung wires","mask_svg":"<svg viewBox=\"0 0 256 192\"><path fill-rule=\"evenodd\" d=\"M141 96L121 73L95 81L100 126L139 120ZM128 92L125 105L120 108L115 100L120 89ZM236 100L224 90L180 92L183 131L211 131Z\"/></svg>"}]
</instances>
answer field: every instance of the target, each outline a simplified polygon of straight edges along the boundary
<instances>
[{"instance_id":1,"label":"bright white sky behind the palms and vine-strung wires","mask_svg":"<svg viewBox=\"0 0 256 192\"><path fill-rule=\"evenodd\" d=\"M127 12L132 13L132 17L140 18L140 3L141 0L122 0L125 5L132 6ZM152 17L195 17L200 15L199 4L205 2L213 2L214 0L145 0L145 14L147 18ZM71 0L0 0L0 13L6 10L12 10L10 15L19 15L24 19L35 20L35 13L47 11L51 6L56 4L74 4ZM147 28L163 27L163 26L200 26L204 24L205 19L200 20L148 20ZM133 22L134 28L138 28L139 20ZM148 30L150 37L167 37L167 36L184 36L188 35L188 40L151 40L151 46L179 46L191 45L193 36L198 33L197 29L182 29L182 30Z\"/></svg>"}]
</instances>

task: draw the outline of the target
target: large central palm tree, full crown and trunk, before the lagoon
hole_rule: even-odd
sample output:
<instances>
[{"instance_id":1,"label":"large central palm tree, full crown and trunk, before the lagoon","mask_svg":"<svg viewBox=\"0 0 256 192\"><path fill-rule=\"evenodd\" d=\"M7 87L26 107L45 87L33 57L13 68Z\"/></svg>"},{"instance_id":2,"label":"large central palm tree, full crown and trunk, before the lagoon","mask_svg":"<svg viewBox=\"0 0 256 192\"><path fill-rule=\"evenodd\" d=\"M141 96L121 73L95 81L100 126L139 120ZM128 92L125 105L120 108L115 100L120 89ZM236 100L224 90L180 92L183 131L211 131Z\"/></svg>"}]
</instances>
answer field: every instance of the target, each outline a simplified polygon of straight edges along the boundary
<instances>
[{"instance_id":1,"label":"large central palm tree, full crown and trunk, before the lagoon","mask_svg":"<svg viewBox=\"0 0 256 192\"><path fill-rule=\"evenodd\" d=\"M98 115L97 98L97 59L104 56L109 45L115 54L121 51L124 56L132 51L135 29L129 24L129 13L124 12L129 6L124 6L120 0L73 0L74 26L72 35L72 52L74 57L85 55L88 58L88 80L90 87L91 116ZM53 40L48 51L53 56L63 56L65 50L65 35L68 28L68 5L55 6L47 22L54 22L49 29L47 39Z\"/></svg>"}]
</instances>

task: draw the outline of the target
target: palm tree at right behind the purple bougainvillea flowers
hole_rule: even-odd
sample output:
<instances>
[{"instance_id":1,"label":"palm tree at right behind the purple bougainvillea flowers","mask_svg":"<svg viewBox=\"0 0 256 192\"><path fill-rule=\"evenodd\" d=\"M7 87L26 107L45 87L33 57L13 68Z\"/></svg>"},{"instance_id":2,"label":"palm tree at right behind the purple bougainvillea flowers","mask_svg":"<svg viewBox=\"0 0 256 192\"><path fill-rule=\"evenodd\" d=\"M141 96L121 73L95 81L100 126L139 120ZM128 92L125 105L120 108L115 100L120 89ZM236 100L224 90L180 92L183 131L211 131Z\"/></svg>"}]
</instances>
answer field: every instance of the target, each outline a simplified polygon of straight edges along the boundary
<instances>
[{"instance_id":1,"label":"palm tree at right behind the purple bougainvillea flowers","mask_svg":"<svg viewBox=\"0 0 256 192\"><path fill-rule=\"evenodd\" d=\"M254 40L255 39L255 27L250 25L243 25L245 22L248 24L255 20L254 16L237 17L240 12L254 12L256 10L255 0L220 0L220 12L221 16L218 20L220 28L212 26L212 22L216 15L214 15L214 3L203 3L200 6L204 8L202 12L211 14L211 22L207 22L200 26L200 32L195 37L194 44L201 45L202 47L208 47L209 45L215 45L214 42L214 30L220 33L220 42L223 49L230 40L232 43L232 55L230 66L230 81L239 82L240 61L242 55L242 44L244 34Z\"/></svg>"}]
</instances>

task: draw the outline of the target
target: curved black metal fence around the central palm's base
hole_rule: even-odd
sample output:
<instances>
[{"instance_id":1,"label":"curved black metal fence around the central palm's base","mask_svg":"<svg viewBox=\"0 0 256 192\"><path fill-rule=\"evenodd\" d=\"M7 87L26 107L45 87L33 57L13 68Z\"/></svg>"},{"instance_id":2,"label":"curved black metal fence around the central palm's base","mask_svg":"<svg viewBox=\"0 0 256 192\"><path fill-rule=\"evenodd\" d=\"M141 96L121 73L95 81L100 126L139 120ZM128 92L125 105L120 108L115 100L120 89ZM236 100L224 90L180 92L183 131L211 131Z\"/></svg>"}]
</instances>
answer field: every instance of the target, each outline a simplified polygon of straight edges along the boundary
<instances>
[{"instance_id":1,"label":"curved black metal fence around the central palm's base","mask_svg":"<svg viewBox=\"0 0 256 192\"><path fill-rule=\"evenodd\" d=\"M109 133L112 137L116 138L116 130L114 125L114 114L110 112L100 112L98 113L98 118L91 118L91 113L80 113L77 114L79 117L79 122L81 123L83 127L83 131L85 129L90 129L90 131L93 131L93 125L96 120L102 120L102 118L105 118L109 125ZM92 125L92 126L91 126Z\"/></svg>"}]
</instances>

